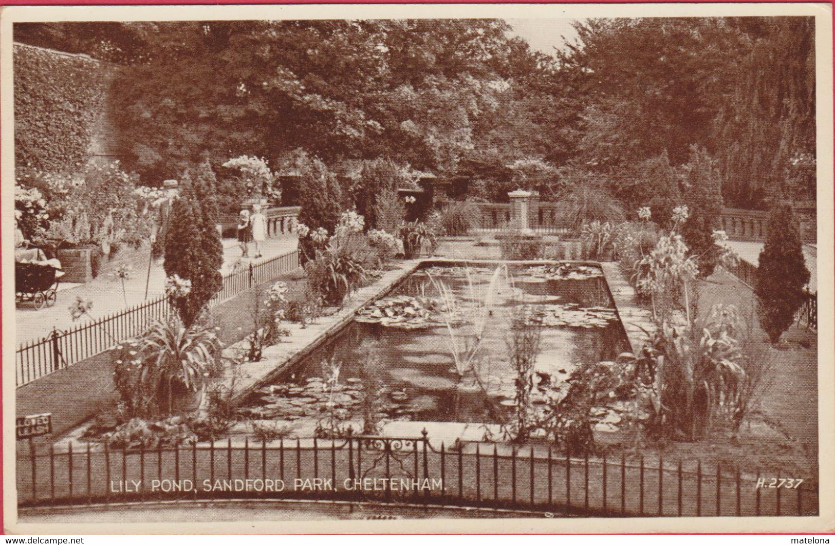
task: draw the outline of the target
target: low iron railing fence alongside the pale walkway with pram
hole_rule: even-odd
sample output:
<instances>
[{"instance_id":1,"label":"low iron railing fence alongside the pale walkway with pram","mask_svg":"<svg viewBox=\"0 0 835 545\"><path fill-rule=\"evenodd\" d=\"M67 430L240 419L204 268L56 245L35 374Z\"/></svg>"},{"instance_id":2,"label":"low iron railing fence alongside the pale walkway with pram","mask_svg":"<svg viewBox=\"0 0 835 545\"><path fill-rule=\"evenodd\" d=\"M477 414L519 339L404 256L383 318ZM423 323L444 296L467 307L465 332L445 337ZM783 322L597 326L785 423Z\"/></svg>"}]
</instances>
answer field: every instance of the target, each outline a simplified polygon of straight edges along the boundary
<instances>
[{"instance_id":1,"label":"low iron railing fence alongside the pale walkway with pram","mask_svg":"<svg viewBox=\"0 0 835 545\"><path fill-rule=\"evenodd\" d=\"M299 267L298 250L277 255L257 265L233 271L223 277L223 286L210 305L228 300L258 284L274 280ZM43 339L18 346L16 353L16 386L23 386L78 361L96 356L145 331L157 319L166 319L175 312L168 299L161 295L154 300L106 315L99 320L73 326L67 331L53 329Z\"/></svg>"}]
</instances>

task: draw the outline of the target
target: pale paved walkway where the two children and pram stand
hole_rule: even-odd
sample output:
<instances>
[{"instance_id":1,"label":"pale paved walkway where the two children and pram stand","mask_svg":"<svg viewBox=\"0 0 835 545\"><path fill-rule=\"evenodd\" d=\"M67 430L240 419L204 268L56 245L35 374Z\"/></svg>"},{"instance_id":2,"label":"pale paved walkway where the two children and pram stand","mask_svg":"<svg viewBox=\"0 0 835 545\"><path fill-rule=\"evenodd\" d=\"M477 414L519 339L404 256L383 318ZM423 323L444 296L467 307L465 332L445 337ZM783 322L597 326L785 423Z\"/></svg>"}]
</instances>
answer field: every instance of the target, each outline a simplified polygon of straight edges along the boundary
<instances>
[{"instance_id":1,"label":"pale paved walkway where the two children and pram stand","mask_svg":"<svg viewBox=\"0 0 835 545\"><path fill-rule=\"evenodd\" d=\"M226 239L224 242L224 263L221 272L230 272L235 262L240 260L240 248L235 240ZM264 257L261 259L246 259L245 263L259 263L276 255L284 254L296 248L296 235L280 235L266 241L266 248L263 250ZM252 255L253 245L250 245ZM148 270L134 270L134 278L125 282L124 295L122 285L119 281L111 281L107 275L99 276L87 284L73 285L69 289L58 291L58 302L51 308L34 310L31 303L18 305L15 310L15 327L18 344L47 336L54 328L68 330L73 325L89 321L89 317L82 317L73 322L70 317L68 306L76 297L93 300L93 307L90 314L95 319L109 315L126 307L139 305L145 300L145 279ZM151 265L148 282L148 299L154 299L164 293L165 271L162 261Z\"/></svg>"}]
</instances>

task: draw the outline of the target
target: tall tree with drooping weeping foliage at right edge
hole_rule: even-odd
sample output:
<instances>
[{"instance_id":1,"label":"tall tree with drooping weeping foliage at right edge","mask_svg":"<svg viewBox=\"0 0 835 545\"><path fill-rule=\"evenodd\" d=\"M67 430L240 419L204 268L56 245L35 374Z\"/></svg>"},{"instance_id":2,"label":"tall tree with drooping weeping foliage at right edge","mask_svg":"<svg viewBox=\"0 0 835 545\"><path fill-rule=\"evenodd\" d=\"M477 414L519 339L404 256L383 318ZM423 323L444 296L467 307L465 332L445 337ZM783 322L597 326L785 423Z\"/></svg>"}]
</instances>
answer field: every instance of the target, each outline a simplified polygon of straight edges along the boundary
<instances>
[{"instance_id":1,"label":"tall tree with drooping weeping foliage at right edge","mask_svg":"<svg viewBox=\"0 0 835 545\"><path fill-rule=\"evenodd\" d=\"M733 18L744 38L732 93L716 117L716 158L726 200L742 208L767 199L814 199L803 166L815 158L814 18ZM799 194L799 195L798 195Z\"/></svg>"}]
</instances>

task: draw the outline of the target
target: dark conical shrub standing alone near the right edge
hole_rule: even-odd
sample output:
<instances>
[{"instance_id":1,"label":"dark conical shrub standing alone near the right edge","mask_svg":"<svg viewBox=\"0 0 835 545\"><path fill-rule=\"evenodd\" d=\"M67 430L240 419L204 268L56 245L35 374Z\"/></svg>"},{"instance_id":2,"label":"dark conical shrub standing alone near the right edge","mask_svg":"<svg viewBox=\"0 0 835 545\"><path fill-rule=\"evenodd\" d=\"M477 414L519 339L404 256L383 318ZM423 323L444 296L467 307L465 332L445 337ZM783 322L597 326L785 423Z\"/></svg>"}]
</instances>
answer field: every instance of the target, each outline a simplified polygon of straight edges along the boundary
<instances>
[{"instance_id":1,"label":"dark conical shrub standing alone near the right edge","mask_svg":"<svg viewBox=\"0 0 835 545\"><path fill-rule=\"evenodd\" d=\"M760 324L772 343L779 341L792 325L805 297L809 276L792 208L786 204L777 206L768 220L754 286Z\"/></svg>"}]
</instances>

